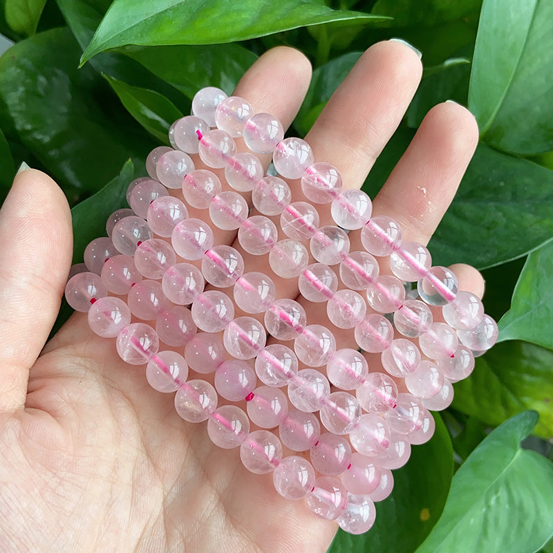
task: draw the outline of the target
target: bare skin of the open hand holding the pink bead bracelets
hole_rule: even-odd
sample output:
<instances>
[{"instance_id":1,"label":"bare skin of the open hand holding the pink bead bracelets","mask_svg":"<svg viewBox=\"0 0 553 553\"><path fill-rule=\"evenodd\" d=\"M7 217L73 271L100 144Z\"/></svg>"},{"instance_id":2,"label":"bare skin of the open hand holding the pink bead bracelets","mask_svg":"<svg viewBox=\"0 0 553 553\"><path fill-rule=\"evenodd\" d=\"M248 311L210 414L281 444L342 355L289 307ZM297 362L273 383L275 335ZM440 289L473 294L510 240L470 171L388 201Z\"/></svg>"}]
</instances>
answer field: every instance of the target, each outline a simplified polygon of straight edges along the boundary
<instances>
[{"instance_id":1,"label":"bare skin of the open hand holding the pink bead bracelets","mask_svg":"<svg viewBox=\"0 0 553 553\"><path fill-rule=\"evenodd\" d=\"M315 159L336 165L346 186L360 187L421 71L404 44L369 48L308 135ZM310 75L301 53L275 48L247 71L236 94L286 127ZM405 241L427 243L477 140L465 108L435 106L375 198L374 213L397 218ZM182 421L172 395L149 388L142 368L120 361L114 341L95 336L86 315L73 315L44 346L72 249L71 215L55 182L24 171L0 214L0 550L326 552L336 523L281 498L269 476L242 467L236 450L214 447L205 424ZM232 243L234 236L218 239ZM460 289L482 295L476 270L454 269ZM297 294L289 283L277 285L280 297Z\"/></svg>"}]
</instances>

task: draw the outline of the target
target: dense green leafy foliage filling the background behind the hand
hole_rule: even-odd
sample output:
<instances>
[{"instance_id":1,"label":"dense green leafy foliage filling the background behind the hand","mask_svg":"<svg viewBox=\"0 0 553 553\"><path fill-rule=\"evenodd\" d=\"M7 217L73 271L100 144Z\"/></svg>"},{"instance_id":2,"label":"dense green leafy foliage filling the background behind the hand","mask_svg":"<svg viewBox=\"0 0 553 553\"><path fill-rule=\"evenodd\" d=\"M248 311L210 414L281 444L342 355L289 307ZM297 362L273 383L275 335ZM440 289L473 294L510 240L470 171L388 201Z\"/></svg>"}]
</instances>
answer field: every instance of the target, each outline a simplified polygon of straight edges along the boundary
<instances>
[{"instance_id":1,"label":"dense green leafy foliage filling the background behind the hand","mask_svg":"<svg viewBox=\"0 0 553 553\"><path fill-rule=\"evenodd\" d=\"M340 532L330 552L553 551L551 0L0 0L0 32L15 43L0 58L0 201L23 160L47 171L73 207L75 262L198 88L231 93L268 48L299 48L315 67L304 135L365 48L419 48L422 83L365 188L431 106L469 106L480 143L430 249L482 270L500 344L395 471L371 532Z\"/></svg>"}]
</instances>

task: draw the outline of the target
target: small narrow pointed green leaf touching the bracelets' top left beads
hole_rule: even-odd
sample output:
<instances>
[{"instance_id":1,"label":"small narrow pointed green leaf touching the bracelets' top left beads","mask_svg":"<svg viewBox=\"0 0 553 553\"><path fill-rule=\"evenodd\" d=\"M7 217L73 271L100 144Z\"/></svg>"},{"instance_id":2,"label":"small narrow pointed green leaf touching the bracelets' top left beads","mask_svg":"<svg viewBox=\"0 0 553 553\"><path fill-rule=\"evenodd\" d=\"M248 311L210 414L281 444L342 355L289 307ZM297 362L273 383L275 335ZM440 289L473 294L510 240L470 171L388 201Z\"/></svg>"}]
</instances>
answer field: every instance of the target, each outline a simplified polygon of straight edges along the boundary
<instances>
[{"instance_id":1,"label":"small narrow pointed green leaf touching the bracelets' top left beads","mask_svg":"<svg viewBox=\"0 0 553 553\"><path fill-rule=\"evenodd\" d=\"M160 142L169 145L169 127L182 117L174 104L155 91L131 86L105 73L103 76L119 96L126 111Z\"/></svg>"}]
</instances>

